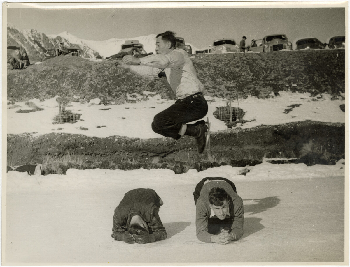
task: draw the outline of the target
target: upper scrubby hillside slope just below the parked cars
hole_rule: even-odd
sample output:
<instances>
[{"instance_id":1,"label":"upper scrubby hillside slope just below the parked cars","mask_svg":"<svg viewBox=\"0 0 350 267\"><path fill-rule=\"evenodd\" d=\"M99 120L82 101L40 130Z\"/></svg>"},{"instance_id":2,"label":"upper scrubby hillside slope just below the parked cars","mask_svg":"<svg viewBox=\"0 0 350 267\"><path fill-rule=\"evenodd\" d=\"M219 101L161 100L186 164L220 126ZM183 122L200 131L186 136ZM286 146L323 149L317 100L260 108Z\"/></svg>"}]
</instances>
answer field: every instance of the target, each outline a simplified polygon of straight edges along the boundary
<instances>
[{"instance_id":1,"label":"upper scrubby hillside slope just below the parked cars","mask_svg":"<svg viewBox=\"0 0 350 267\"><path fill-rule=\"evenodd\" d=\"M273 53L198 54L192 58L206 95L230 99L247 95L268 98L279 91L345 93L345 50L290 51ZM172 98L159 78L136 78L114 66L116 61L90 61L58 57L25 70L7 68L8 101L64 96L68 101L94 98L102 103L123 103L128 95L144 91Z\"/></svg>"}]
</instances>

